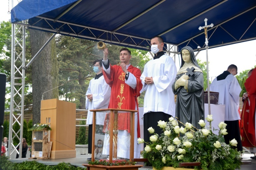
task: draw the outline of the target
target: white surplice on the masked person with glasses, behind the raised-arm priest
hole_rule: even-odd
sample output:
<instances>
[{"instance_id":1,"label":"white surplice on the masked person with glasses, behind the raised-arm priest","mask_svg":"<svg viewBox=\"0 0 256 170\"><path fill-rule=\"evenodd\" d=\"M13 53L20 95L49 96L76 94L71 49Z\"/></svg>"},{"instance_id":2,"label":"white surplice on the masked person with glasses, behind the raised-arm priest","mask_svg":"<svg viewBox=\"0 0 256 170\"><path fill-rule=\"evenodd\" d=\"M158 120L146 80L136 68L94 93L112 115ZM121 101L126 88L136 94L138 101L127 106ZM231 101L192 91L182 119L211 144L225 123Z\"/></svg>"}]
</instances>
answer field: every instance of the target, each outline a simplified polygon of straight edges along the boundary
<instances>
[{"instance_id":1,"label":"white surplice on the masked person with glasses, behind the raised-arm priest","mask_svg":"<svg viewBox=\"0 0 256 170\"><path fill-rule=\"evenodd\" d=\"M106 84L103 75L99 79L91 79L86 95L93 94L93 100L86 98L86 108L88 108L86 124L93 124L93 112L90 109L103 109L109 107L111 88ZM103 125L105 113L96 113L96 124Z\"/></svg>"}]
</instances>

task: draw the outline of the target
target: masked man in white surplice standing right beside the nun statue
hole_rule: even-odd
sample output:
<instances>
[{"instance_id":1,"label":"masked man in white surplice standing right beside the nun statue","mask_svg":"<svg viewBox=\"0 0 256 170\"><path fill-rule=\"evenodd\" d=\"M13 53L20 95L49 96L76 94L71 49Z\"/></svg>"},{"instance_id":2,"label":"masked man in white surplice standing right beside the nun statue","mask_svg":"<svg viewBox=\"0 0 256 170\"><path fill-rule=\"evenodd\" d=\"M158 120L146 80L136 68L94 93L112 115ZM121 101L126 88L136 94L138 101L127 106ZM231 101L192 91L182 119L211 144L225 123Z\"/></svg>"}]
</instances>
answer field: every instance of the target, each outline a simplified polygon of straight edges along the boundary
<instances>
[{"instance_id":1,"label":"masked man in white surplice standing right beside the nun statue","mask_svg":"<svg viewBox=\"0 0 256 170\"><path fill-rule=\"evenodd\" d=\"M154 58L148 61L140 77L144 97L144 141L149 142L148 128L155 129L155 133L161 134L162 130L157 126L159 120L169 121L175 116L174 94L172 83L177 74L177 68L172 57L163 52L163 39L155 36L151 39L151 52ZM145 147L144 143L144 147Z\"/></svg>"}]
</instances>

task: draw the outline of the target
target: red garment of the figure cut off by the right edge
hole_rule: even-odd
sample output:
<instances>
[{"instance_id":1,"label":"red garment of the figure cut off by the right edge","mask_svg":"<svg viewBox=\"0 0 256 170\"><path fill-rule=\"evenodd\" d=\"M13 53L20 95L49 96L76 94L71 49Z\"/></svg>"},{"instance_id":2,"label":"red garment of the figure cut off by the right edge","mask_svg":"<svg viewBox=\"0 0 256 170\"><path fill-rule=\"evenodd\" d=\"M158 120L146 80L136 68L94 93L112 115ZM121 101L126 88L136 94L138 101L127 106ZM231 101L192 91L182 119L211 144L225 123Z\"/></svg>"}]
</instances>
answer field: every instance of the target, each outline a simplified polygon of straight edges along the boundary
<instances>
[{"instance_id":1,"label":"red garment of the figure cut off by the right edge","mask_svg":"<svg viewBox=\"0 0 256 170\"><path fill-rule=\"evenodd\" d=\"M248 133L255 136L255 104L256 104L256 69L254 68L252 74L246 79L244 86L250 100L249 116L248 116Z\"/></svg>"}]
</instances>

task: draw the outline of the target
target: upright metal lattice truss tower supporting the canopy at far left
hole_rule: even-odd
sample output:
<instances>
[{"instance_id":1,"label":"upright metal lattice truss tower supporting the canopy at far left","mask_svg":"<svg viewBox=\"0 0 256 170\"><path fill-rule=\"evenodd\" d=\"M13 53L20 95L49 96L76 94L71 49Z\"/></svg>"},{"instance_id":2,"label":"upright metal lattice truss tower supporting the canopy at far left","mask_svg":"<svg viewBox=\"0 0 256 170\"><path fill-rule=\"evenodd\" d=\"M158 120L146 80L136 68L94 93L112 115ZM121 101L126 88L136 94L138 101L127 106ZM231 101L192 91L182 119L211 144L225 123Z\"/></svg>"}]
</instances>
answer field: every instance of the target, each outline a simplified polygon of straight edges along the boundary
<instances>
[{"instance_id":1,"label":"upright metal lattice truss tower supporting the canopy at far left","mask_svg":"<svg viewBox=\"0 0 256 170\"><path fill-rule=\"evenodd\" d=\"M13 5L13 0L12 0ZM25 21L22 21L25 23ZM23 117L24 117L24 91L25 91L25 44L26 28L22 25L12 24L12 49L11 49L11 105L9 122L9 143L8 157L19 152L19 158L22 157L23 138ZM18 123L19 130L15 131L13 126ZM19 133L19 135L18 135ZM18 138L19 144L13 145L13 139ZM14 148L12 151L10 148Z\"/></svg>"}]
</instances>

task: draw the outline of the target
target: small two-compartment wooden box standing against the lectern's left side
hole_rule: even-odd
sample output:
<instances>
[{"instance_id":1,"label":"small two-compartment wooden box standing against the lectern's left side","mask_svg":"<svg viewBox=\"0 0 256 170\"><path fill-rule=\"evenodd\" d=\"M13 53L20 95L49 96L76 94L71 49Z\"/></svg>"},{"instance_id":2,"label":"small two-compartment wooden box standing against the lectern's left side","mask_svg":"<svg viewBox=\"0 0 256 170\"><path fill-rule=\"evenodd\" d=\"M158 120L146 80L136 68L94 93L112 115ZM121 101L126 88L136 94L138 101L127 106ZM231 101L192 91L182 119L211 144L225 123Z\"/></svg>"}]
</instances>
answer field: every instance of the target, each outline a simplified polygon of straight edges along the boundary
<instances>
[{"instance_id":1,"label":"small two-compartment wooden box standing against the lectern's left side","mask_svg":"<svg viewBox=\"0 0 256 170\"><path fill-rule=\"evenodd\" d=\"M50 131L43 129L32 132L31 158L48 159L51 152L51 143L48 142Z\"/></svg>"}]
</instances>

